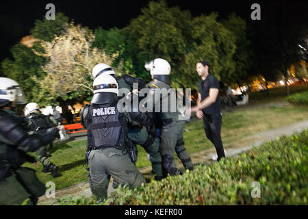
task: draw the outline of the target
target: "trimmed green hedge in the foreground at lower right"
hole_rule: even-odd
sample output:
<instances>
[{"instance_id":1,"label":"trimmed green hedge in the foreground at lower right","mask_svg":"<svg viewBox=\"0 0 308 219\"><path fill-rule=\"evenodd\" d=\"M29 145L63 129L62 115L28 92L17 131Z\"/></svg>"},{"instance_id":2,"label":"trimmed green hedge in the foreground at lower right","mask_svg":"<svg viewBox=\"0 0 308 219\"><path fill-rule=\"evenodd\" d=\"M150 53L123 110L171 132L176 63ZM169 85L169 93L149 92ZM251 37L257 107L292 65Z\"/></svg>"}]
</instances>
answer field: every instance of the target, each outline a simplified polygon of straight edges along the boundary
<instances>
[{"instance_id":1,"label":"trimmed green hedge in the foreground at lower right","mask_svg":"<svg viewBox=\"0 0 308 219\"><path fill-rule=\"evenodd\" d=\"M308 129L277 138L209 166L197 166L182 176L151 181L130 190L118 188L114 196L62 198L60 205L307 205ZM260 198L252 198L251 183L260 185Z\"/></svg>"}]
</instances>

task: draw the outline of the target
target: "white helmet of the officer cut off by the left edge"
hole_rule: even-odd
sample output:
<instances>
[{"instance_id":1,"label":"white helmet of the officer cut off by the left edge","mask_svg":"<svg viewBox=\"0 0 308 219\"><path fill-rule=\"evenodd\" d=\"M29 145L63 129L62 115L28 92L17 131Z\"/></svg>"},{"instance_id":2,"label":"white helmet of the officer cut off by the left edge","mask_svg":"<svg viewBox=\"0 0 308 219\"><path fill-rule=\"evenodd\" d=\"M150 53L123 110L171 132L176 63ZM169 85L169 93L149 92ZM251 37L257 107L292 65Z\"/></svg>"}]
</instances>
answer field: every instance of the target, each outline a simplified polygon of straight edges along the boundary
<instances>
[{"instance_id":1,"label":"white helmet of the officer cut off by the left edge","mask_svg":"<svg viewBox=\"0 0 308 219\"><path fill-rule=\"evenodd\" d=\"M0 106L16 101L16 104L25 104L27 99L21 86L7 77L0 77Z\"/></svg>"}]
</instances>

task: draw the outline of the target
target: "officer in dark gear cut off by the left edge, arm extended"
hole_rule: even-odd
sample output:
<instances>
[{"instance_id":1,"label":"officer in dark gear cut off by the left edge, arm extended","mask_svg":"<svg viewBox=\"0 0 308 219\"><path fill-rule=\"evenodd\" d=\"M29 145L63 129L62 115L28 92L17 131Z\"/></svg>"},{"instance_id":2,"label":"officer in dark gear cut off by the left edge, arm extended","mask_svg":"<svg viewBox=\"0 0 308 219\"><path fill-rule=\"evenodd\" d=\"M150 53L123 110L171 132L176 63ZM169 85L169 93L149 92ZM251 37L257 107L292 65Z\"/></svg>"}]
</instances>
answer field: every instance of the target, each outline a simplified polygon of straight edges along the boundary
<instances>
[{"instance_id":1,"label":"officer in dark gear cut off by the left edge, arm extended","mask_svg":"<svg viewBox=\"0 0 308 219\"><path fill-rule=\"evenodd\" d=\"M28 135L21 126L22 120L14 115L15 104L25 104L25 96L16 81L0 78L0 205L36 205L45 186L36 177L35 170L23 168L25 162L36 162L27 155L55 138L57 128L51 128L44 136Z\"/></svg>"}]
</instances>

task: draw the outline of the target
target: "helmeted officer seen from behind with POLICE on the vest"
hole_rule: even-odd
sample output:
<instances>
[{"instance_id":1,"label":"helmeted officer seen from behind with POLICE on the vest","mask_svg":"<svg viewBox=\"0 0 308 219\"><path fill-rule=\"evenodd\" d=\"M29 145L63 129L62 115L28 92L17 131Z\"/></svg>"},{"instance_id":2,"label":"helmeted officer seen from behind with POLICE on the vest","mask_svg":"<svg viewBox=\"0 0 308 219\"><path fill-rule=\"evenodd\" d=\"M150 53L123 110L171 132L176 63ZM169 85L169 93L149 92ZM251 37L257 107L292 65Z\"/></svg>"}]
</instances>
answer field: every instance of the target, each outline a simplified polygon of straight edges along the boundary
<instances>
[{"instance_id":1,"label":"helmeted officer seen from behind with POLICE on the vest","mask_svg":"<svg viewBox=\"0 0 308 219\"><path fill-rule=\"evenodd\" d=\"M118 109L118 83L111 75L99 75L93 82L94 96L81 110L81 124L88 129L88 175L94 196L107 198L110 176L118 183L136 187L145 183L132 162L127 120L146 126L151 119L140 112L122 113ZM90 153L89 153L90 151Z\"/></svg>"}]
</instances>

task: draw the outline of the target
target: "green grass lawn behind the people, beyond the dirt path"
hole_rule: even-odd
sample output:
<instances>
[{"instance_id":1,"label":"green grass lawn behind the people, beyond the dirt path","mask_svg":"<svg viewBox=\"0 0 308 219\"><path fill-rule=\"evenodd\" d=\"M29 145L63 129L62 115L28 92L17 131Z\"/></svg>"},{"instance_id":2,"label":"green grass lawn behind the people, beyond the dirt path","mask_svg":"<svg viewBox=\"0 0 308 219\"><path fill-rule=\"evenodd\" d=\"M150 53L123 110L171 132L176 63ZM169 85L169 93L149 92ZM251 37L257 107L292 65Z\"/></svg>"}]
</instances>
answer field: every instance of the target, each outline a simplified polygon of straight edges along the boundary
<instances>
[{"instance_id":1,"label":"green grass lawn behind the people, beyond the dirt path","mask_svg":"<svg viewBox=\"0 0 308 219\"><path fill-rule=\"evenodd\" d=\"M277 96L279 96L279 92L277 92ZM261 131L291 125L307 119L308 107L305 105L291 105L281 108L270 106L238 108L222 116L222 143L237 142ZM187 123L183 130L183 139L188 153L197 153L214 147L205 136L202 120ZM38 178L43 183L53 181L56 189L61 189L88 180L88 171L86 167L83 167L85 154L86 140L55 144L51 150L52 156L49 159L59 166L60 177L57 178L53 178L49 173L41 172L41 164L34 166L34 164L27 163L24 166L37 170ZM36 155L34 154L34 156ZM136 165L138 168L151 165L144 149L140 146L138 146L138 162Z\"/></svg>"}]
</instances>

